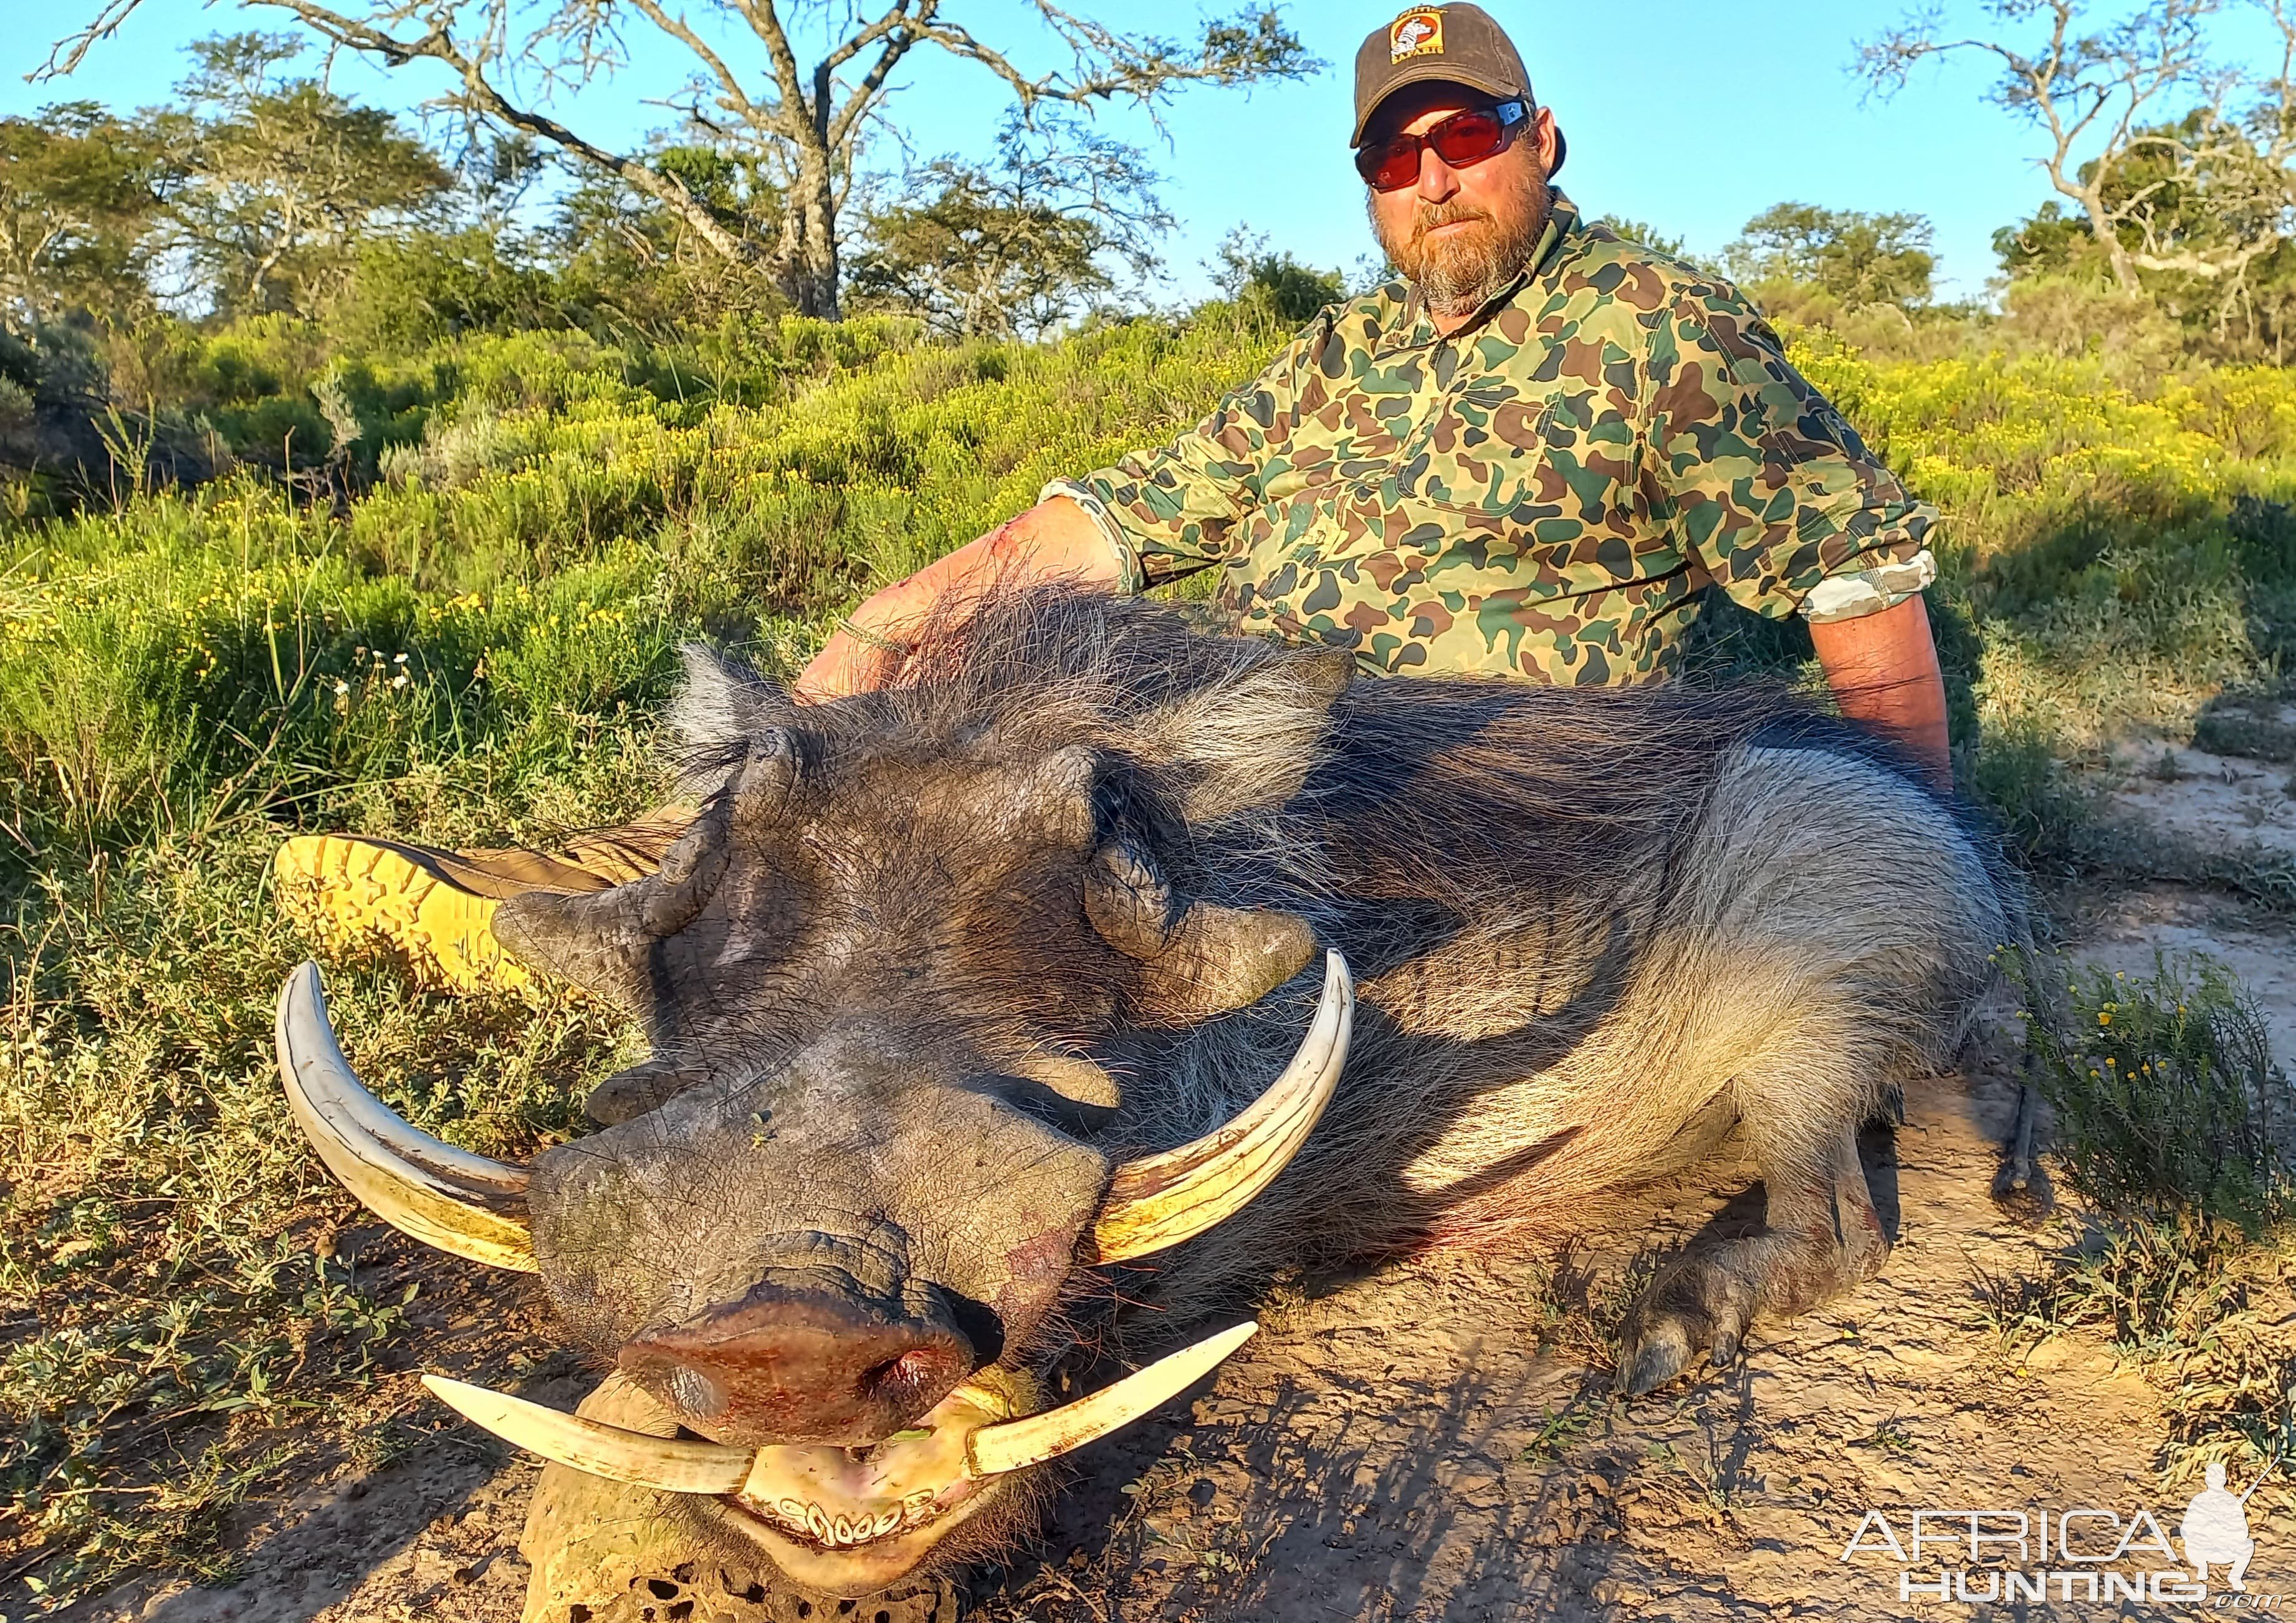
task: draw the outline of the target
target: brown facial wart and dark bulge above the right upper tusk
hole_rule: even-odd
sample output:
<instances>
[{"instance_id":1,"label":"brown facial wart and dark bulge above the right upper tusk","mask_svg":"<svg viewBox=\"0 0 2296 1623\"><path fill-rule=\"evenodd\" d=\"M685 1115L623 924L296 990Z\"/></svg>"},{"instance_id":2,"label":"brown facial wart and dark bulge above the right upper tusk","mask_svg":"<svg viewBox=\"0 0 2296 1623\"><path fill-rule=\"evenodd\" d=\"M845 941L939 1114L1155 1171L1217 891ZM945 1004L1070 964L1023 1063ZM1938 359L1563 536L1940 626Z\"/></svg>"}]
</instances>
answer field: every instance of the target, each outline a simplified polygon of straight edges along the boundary
<instances>
[{"instance_id":1,"label":"brown facial wart and dark bulge above the right upper tusk","mask_svg":"<svg viewBox=\"0 0 2296 1623\"><path fill-rule=\"evenodd\" d=\"M1316 957L1316 930L1297 914L1182 902L1155 859L1123 836L1084 868L1084 916L1141 964L1141 1015L1192 1026L1258 1003Z\"/></svg>"}]
</instances>

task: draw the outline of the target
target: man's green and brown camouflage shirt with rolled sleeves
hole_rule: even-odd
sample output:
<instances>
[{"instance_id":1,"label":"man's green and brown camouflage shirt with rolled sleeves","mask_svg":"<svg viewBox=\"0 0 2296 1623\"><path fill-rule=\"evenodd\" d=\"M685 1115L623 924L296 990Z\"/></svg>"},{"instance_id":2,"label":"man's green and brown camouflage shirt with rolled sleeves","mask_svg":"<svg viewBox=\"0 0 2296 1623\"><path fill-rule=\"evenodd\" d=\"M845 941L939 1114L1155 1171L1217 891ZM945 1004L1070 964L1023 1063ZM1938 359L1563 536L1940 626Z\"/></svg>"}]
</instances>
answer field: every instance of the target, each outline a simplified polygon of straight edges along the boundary
<instances>
[{"instance_id":1,"label":"man's green and brown camouflage shirt with rolled sleeves","mask_svg":"<svg viewBox=\"0 0 2296 1623\"><path fill-rule=\"evenodd\" d=\"M1389 673L1632 682L1671 668L1708 581L1832 620L1933 574L1936 514L1738 289L1561 195L1451 337L1405 282L1332 305L1196 429L1047 494L1132 590L1221 565L1244 631Z\"/></svg>"}]
</instances>

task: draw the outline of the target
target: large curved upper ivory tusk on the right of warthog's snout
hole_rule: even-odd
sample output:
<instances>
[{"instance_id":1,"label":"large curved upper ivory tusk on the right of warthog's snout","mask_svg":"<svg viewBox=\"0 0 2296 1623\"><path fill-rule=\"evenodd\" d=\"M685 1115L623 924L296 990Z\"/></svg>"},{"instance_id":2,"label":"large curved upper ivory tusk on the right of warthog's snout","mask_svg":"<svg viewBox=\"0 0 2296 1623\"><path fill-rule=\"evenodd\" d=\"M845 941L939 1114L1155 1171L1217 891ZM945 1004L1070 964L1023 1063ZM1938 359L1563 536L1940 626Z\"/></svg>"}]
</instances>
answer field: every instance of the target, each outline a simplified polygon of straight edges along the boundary
<instances>
[{"instance_id":1,"label":"large curved upper ivory tusk on the right of warthog's snout","mask_svg":"<svg viewBox=\"0 0 2296 1623\"><path fill-rule=\"evenodd\" d=\"M1300 1152L1332 1102L1355 1031L1348 960L1322 955L1322 1001L1300 1051L1226 1127L1176 1150L1125 1162L1093 1224L1097 1263L1123 1263L1201 1235L1235 1217Z\"/></svg>"}]
</instances>

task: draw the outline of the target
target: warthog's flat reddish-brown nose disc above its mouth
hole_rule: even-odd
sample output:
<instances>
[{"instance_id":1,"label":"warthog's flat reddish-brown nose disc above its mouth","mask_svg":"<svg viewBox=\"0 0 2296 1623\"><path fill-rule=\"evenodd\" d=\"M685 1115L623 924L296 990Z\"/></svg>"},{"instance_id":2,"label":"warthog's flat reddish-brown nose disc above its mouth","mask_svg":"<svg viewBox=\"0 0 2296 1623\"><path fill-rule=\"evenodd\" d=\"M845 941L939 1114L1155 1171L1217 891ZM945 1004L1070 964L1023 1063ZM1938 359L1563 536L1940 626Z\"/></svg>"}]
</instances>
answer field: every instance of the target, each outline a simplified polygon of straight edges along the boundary
<instances>
[{"instance_id":1,"label":"warthog's flat reddish-brown nose disc above its mouth","mask_svg":"<svg viewBox=\"0 0 2296 1623\"><path fill-rule=\"evenodd\" d=\"M937 1302L760 1286L622 1343L620 1366L696 1432L730 1444L859 1446L916 1421L978 1366Z\"/></svg>"}]
</instances>

